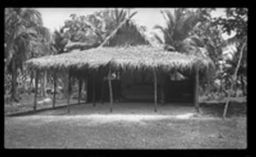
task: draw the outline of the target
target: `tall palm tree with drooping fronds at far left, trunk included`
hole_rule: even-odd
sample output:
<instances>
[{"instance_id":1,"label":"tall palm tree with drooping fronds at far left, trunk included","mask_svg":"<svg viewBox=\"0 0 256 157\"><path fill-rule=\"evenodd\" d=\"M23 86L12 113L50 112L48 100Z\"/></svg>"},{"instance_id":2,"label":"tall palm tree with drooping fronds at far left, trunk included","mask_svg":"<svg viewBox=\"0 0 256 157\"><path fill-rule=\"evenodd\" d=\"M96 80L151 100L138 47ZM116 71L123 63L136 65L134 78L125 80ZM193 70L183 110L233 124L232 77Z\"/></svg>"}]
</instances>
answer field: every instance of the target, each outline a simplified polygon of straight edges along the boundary
<instances>
[{"instance_id":1,"label":"tall palm tree with drooping fronds at far left, trunk included","mask_svg":"<svg viewBox=\"0 0 256 157\"><path fill-rule=\"evenodd\" d=\"M49 30L43 27L39 11L35 9L5 9L5 72L11 72L11 97L17 101L17 68L23 70L31 41L47 42Z\"/></svg>"}]
</instances>

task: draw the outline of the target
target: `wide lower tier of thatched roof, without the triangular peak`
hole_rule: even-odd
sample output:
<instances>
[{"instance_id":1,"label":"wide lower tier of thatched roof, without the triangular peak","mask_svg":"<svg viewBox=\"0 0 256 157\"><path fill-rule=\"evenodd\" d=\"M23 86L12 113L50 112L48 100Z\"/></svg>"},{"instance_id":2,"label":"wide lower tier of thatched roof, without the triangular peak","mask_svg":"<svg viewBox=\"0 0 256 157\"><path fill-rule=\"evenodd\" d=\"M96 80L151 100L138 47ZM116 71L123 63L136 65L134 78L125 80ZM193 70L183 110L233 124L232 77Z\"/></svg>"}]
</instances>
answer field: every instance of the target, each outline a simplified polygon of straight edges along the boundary
<instances>
[{"instance_id":1,"label":"wide lower tier of thatched roof, without the triangular peak","mask_svg":"<svg viewBox=\"0 0 256 157\"><path fill-rule=\"evenodd\" d=\"M159 70L200 70L212 68L210 60L197 56L166 52L152 46L104 47L90 50L74 50L70 53L55 56L33 58L27 62L30 68L93 68L111 65L114 68L158 68Z\"/></svg>"}]
</instances>

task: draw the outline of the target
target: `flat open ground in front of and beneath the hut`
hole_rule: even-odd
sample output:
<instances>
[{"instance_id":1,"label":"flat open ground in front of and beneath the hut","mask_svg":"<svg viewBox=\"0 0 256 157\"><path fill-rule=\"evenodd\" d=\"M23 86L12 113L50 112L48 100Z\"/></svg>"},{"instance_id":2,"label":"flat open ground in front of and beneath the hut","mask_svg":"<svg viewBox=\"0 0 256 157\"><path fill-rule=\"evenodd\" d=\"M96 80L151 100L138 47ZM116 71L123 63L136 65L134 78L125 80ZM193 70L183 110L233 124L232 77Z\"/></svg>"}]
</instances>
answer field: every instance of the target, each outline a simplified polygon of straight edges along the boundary
<instances>
[{"instance_id":1,"label":"flat open ground in front of and beneath the hut","mask_svg":"<svg viewBox=\"0 0 256 157\"><path fill-rule=\"evenodd\" d=\"M5 117L5 148L246 148L245 114L223 121L192 106L100 103ZM232 109L231 109L232 111Z\"/></svg>"}]
</instances>

